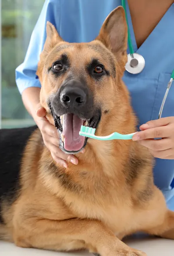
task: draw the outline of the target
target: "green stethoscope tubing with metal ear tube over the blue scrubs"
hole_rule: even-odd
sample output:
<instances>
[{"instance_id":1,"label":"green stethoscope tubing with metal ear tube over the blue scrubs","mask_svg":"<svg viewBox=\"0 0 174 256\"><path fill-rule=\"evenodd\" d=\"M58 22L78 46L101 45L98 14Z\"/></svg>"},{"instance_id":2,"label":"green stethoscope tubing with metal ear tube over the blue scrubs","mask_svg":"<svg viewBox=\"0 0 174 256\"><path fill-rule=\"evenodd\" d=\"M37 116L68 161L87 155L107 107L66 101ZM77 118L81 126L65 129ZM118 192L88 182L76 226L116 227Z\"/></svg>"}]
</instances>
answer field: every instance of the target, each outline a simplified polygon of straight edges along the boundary
<instances>
[{"instance_id":1,"label":"green stethoscope tubing with metal ear tube over the blue scrubs","mask_svg":"<svg viewBox=\"0 0 174 256\"><path fill-rule=\"evenodd\" d=\"M125 15L126 15L127 33L128 33L128 46L129 46L130 56L132 58L134 58L134 49L133 49L132 41L131 41L131 38L130 38L130 30L129 30L128 19L127 19L126 1L125 0L121 0L121 4L122 4L122 6L124 8ZM161 118L161 116L162 116L163 107L164 107L164 104L166 102L167 94L168 94L168 92L170 90L170 87L171 87L173 81L174 81L174 70L172 71L171 76L170 76L170 81L167 84L166 93L164 95L163 102L162 102L160 110L159 110L158 118Z\"/></svg>"}]
</instances>

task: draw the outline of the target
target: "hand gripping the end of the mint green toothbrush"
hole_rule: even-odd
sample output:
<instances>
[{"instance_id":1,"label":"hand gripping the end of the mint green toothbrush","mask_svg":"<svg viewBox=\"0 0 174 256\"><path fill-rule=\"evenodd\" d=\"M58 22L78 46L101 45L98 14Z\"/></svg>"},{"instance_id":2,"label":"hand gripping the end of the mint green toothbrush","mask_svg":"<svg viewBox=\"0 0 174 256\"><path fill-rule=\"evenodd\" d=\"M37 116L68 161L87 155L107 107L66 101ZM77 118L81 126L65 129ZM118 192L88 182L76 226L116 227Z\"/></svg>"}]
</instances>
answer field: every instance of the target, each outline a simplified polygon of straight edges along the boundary
<instances>
[{"instance_id":1,"label":"hand gripping the end of the mint green toothbrush","mask_svg":"<svg viewBox=\"0 0 174 256\"><path fill-rule=\"evenodd\" d=\"M142 124L140 130L133 136L133 140L149 148L156 158L174 159L174 117L149 121Z\"/></svg>"}]
</instances>

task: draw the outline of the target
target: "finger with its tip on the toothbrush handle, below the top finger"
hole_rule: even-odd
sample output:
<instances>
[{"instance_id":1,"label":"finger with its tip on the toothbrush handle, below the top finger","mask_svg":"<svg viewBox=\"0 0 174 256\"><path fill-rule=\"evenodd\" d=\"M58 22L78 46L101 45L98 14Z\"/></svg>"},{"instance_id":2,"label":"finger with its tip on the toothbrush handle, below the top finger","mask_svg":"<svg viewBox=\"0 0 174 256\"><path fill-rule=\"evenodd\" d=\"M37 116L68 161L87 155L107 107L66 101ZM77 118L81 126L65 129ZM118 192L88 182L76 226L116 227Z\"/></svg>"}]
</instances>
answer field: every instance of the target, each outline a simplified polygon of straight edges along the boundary
<instances>
[{"instance_id":1,"label":"finger with its tip on the toothbrush handle, below the top finger","mask_svg":"<svg viewBox=\"0 0 174 256\"><path fill-rule=\"evenodd\" d=\"M154 139L154 138L167 138L171 135L171 129L168 126L162 126L157 128L147 129L141 132L137 132L132 137L133 140L142 140L142 139Z\"/></svg>"}]
</instances>

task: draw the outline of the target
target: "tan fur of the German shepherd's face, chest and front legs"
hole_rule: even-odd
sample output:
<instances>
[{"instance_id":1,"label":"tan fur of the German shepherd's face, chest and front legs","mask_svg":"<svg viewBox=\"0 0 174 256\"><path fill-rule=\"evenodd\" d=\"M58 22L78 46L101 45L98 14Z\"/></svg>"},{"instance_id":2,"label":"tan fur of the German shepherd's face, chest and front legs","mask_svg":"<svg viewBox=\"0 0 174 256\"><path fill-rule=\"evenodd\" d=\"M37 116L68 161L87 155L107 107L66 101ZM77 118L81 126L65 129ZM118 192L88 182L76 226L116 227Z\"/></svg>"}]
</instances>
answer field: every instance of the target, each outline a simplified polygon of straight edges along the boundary
<instances>
[{"instance_id":1,"label":"tan fur of the German shepherd's face, chest and front legs","mask_svg":"<svg viewBox=\"0 0 174 256\"><path fill-rule=\"evenodd\" d=\"M116 33L116 27L121 34ZM47 41L37 74L42 83L40 101L52 124L47 98L54 95L66 75L55 80L47 74L47 68L66 52L73 75L85 75L83 67L91 56L102 60L108 69L109 58L113 58L115 78L104 78L99 84L85 75L95 102L102 102L102 113L109 110L102 115L96 134L135 132L136 118L121 80L126 31L122 8L112 11L97 40L88 44L63 42L47 24ZM64 49L58 51L62 44ZM103 52L94 50L95 45L101 45ZM85 248L101 256L145 256L119 240L136 231L174 239L174 212L167 210L162 192L153 184L153 161L147 149L131 140L91 139L85 153L77 157L77 166L59 166L43 145L40 131L33 133L22 159L20 196L11 207L4 203L7 225L3 230L0 227L3 239L21 247L57 251Z\"/></svg>"}]
</instances>

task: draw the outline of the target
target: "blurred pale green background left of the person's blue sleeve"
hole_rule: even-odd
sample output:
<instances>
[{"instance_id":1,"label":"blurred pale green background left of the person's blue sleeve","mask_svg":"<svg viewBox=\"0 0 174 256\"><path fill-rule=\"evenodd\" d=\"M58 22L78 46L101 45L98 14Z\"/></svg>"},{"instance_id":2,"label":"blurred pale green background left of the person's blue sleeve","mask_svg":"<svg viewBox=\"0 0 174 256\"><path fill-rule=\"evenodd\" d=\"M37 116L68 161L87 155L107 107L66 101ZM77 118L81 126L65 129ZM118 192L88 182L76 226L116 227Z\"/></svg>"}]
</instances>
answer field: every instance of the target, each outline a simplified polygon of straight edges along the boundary
<instances>
[{"instance_id":1,"label":"blurred pale green background left of the person's blue sleeve","mask_svg":"<svg viewBox=\"0 0 174 256\"><path fill-rule=\"evenodd\" d=\"M15 83L15 68L24 60L44 0L0 0L0 128L33 125Z\"/></svg>"}]
</instances>

